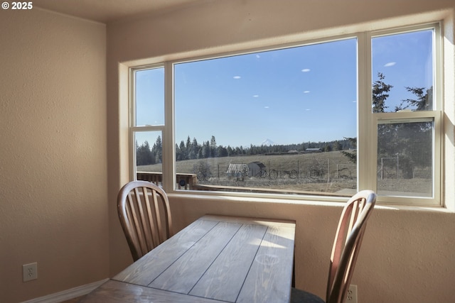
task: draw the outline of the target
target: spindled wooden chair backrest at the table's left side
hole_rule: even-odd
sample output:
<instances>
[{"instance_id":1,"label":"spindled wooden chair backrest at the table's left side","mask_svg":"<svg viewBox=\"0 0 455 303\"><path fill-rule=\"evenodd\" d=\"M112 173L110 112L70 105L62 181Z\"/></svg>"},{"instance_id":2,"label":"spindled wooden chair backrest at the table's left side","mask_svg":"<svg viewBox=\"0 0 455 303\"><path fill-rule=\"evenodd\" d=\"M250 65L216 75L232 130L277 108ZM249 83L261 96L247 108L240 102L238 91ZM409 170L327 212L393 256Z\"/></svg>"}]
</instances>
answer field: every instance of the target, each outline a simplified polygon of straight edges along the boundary
<instances>
[{"instance_id":1,"label":"spindled wooden chair backrest at the table's left side","mask_svg":"<svg viewBox=\"0 0 455 303\"><path fill-rule=\"evenodd\" d=\"M117 196L117 212L134 261L172 236L168 197L151 182L125 184Z\"/></svg>"}]
</instances>

